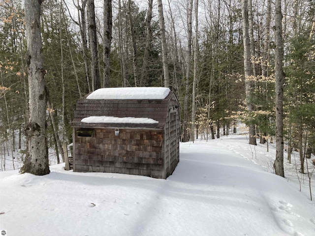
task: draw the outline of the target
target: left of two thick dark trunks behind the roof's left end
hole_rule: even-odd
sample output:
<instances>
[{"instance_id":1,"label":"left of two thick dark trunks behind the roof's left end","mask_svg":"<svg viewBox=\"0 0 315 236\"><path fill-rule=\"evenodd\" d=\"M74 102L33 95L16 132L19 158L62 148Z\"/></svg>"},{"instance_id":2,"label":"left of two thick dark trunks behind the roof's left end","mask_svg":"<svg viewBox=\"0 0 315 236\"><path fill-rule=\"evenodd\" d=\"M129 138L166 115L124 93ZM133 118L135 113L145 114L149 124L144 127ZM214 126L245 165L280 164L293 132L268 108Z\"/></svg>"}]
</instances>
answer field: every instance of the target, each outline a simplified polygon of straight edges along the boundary
<instances>
[{"instance_id":1,"label":"left of two thick dark trunks behind the roof's left end","mask_svg":"<svg viewBox=\"0 0 315 236\"><path fill-rule=\"evenodd\" d=\"M95 21L95 5L94 0L87 1L88 13L88 28L89 40L91 49L91 65L92 65L92 90L100 88L99 66L98 66L98 51L97 51L97 36L96 36L96 21Z\"/></svg>"}]
</instances>

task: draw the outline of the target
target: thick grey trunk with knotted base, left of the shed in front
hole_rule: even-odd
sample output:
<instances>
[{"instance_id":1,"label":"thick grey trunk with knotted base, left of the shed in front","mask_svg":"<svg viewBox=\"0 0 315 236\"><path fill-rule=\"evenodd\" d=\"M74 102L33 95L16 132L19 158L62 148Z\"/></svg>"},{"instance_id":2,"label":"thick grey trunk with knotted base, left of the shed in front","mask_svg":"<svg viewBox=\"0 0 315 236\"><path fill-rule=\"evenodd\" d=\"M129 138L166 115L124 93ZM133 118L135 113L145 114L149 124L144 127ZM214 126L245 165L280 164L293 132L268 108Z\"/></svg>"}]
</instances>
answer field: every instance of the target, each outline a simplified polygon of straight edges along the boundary
<instances>
[{"instance_id":1,"label":"thick grey trunk with knotted base, left of the shed in front","mask_svg":"<svg viewBox=\"0 0 315 236\"><path fill-rule=\"evenodd\" d=\"M25 127L28 149L22 173L49 174L46 138L46 90L40 35L41 0L25 0L27 65L29 71L30 117Z\"/></svg>"}]
</instances>

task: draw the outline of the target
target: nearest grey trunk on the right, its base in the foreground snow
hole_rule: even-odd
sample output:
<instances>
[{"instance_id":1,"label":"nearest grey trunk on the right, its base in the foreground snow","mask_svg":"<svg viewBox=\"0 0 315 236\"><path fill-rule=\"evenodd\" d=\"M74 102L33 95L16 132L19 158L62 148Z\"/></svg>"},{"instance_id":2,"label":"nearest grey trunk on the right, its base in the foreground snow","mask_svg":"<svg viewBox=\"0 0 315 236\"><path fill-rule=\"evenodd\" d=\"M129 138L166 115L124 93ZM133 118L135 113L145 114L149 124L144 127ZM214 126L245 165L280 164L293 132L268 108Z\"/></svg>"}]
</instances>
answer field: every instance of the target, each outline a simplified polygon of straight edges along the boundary
<instances>
[{"instance_id":1,"label":"nearest grey trunk on the right, its base in the foreground snow","mask_svg":"<svg viewBox=\"0 0 315 236\"><path fill-rule=\"evenodd\" d=\"M282 10L281 0L275 0L275 94L276 94L276 160L275 173L284 177L284 71L283 71L283 42L282 42Z\"/></svg>"}]
</instances>

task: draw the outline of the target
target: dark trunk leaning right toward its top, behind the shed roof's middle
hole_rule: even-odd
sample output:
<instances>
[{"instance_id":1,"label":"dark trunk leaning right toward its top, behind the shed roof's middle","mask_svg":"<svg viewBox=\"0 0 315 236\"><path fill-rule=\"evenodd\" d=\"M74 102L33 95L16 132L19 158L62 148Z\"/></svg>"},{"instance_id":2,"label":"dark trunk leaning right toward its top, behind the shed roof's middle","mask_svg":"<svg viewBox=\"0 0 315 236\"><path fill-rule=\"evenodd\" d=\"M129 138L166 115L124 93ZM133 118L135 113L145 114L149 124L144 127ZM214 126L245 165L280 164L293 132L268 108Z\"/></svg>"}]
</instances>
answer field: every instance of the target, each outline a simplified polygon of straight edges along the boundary
<instances>
[{"instance_id":1,"label":"dark trunk leaning right toward its top, behind the shed roof's middle","mask_svg":"<svg viewBox=\"0 0 315 236\"><path fill-rule=\"evenodd\" d=\"M151 20L152 20L152 8L153 8L153 0L148 0L148 15L147 15L147 32L146 32L146 48L143 56L143 64L142 64L142 73L140 78L140 85L145 86L147 82L147 68L149 64L149 56L151 52L151 42L152 42L152 29L151 29Z\"/></svg>"}]
</instances>

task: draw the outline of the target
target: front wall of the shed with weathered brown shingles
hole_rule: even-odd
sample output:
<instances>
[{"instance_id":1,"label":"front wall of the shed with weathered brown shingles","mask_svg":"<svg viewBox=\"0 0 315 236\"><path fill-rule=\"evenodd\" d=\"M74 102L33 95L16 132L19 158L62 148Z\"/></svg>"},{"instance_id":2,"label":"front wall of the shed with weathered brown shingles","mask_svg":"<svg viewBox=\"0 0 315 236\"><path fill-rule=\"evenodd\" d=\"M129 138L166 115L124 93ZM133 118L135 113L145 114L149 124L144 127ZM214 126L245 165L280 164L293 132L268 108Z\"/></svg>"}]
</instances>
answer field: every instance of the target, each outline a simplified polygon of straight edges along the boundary
<instances>
[{"instance_id":1,"label":"front wall of the shed with weathered brown shingles","mask_svg":"<svg viewBox=\"0 0 315 236\"><path fill-rule=\"evenodd\" d=\"M162 130L95 128L92 137L73 128L75 172L109 172L165 178Z\"/></svg>"}]
</instances>

